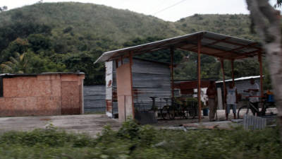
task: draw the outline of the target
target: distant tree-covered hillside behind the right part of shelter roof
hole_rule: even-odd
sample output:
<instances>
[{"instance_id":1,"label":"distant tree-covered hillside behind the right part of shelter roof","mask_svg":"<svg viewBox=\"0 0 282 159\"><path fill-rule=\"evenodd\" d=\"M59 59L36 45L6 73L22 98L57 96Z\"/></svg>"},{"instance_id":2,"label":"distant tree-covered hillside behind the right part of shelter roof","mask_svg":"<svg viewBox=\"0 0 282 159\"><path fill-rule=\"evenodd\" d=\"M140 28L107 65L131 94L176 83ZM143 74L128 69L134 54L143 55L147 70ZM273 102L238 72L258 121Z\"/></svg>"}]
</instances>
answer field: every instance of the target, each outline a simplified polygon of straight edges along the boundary
<instances>
[{"instance_id":1,"label":"distant tree-covered hillside behind the right part of shelter roof","mask_svg":"<svg viewBox=\"0 0 282 159\"><path fill-rule=\"evenodd\" d=\"M250 18L244 14L195 14L181 18L175 25L185 33L209 30L224 35L258 40L255 35L250 34Z\"/></svg>"}]
</instances>

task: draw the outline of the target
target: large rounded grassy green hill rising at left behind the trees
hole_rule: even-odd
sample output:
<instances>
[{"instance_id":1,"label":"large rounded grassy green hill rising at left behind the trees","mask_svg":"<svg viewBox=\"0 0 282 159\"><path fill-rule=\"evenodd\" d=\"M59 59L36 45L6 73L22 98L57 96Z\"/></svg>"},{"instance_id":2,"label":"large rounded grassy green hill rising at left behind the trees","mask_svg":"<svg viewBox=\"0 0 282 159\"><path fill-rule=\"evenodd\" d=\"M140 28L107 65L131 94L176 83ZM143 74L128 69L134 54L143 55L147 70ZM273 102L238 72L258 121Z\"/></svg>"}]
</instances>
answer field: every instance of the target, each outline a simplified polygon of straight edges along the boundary
<instances>
[{"instance_id":1,"label":"large rounded grassy green hill rising at left behind the trees","mask_svg":"<svg viewBox=\"0 0 282 159\"><path fill-rule=\"evenodd\" d=\"M49 25L51 39L72 45L64 51L80 51L81 45L95 47L97 39L122 44L147 36L168 37L183 34L173 23L132 11L81 3L46 3L24 6L0 14L0 21L25 20ZM94 46L93 46L94 45Z\"/></svg>"}]
</instances>

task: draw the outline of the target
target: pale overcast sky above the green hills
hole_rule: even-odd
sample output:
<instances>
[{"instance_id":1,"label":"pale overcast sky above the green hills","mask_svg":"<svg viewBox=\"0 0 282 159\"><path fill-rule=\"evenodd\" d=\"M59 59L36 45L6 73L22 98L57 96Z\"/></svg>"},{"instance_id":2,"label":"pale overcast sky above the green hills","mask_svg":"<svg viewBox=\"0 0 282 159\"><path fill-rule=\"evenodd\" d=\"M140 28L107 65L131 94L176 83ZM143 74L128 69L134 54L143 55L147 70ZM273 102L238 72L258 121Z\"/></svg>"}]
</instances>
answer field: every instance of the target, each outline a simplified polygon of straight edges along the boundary
<instances>
[{"instance_id":1,"label":"pale overcast sky above the green hills","mask_svg":"<svg viewBox=\"0 0 282 159\"><path fill-rule=\"evenodd\" d=\"M39 0L0 0L0 6L8 9L35 4ZM58 0L57 0L58 1ZM43 0L43 2L57 2ZM59 0L70 1L70 0ZM245 0L73 0L82 3L104 4L114 8L123 8L137 13L156 16L158 18L176 21L192 16L195 13L244 13L247 14ZM274 4L276 0L270 0Z\"/></svg>"}]
</instances>

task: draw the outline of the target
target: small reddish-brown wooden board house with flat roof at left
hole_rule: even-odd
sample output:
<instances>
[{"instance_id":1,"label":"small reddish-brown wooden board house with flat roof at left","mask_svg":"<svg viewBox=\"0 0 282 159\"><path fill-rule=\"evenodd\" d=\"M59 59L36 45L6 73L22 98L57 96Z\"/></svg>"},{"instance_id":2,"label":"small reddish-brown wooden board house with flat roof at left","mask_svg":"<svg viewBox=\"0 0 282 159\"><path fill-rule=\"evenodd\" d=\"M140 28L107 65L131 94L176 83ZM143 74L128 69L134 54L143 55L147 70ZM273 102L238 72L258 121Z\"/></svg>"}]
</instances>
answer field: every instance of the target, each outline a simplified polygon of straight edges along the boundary
<instances>
[{"instance_id":1,"label":"small reddish-brown wooden board house with flat roof at left","mask_svg":"<svg viewBox=\"0 0 282 159\"><path fill-rule=\"evenodd\" d=\"M0 116L83 113L85 73L1 74Z\"/></svg>"}]
</instances>

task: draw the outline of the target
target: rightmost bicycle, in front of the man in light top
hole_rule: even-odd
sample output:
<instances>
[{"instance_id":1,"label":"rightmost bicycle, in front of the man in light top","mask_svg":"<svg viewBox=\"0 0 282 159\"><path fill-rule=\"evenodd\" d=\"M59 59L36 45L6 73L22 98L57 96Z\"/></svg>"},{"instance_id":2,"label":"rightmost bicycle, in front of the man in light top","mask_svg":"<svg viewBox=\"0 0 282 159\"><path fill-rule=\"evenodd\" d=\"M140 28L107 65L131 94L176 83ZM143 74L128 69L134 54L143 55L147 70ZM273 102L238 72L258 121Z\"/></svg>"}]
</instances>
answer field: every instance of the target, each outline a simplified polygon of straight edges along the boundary
<instances>
[{"instance_id":1,"label":"rightmost bicycle, in front of the man in light top","mask_svg":"<svg viewBox=\"0 0 282 159\"><path fill-rule=\"evenodd\" d=\"M254 98L254 97L256 96L249 96L249 98ZM260 111L259 108L255 107L255 105L253 105L253 103L250 101L247 102L247 105L243 105L242 107L240 107L237 113L238 119L240 118L242 119L245 114L249 114L251 112L254 116L255 114L257 114L257 116L259 117L265 116L267 108L269 108L271 105L274 105L274 103L268 103L264 96L258 102L258 105L259 103L262 103L262 108Z\"/></svg>"}]
</instances>

